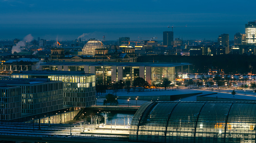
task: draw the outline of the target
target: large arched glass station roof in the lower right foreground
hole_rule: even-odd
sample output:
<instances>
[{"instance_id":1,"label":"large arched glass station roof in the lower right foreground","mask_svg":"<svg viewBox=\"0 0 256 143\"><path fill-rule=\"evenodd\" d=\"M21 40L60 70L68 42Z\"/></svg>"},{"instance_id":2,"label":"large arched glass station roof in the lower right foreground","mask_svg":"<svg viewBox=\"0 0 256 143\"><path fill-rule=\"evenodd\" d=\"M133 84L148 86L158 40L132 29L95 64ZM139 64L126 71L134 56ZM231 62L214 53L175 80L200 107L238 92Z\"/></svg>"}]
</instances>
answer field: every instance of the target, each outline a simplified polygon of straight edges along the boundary
<instances>
[{"instance_id":1,"label":"large arched glass station roof in the lower right foreground","mask_svg":"<svg viewBox=\"0 0 256 143\"><path fill-rule=\"evenodd\" d=\"M130 141L255 143L256 102L148 102L134 115Z\"/></svg>"}]
</instances>

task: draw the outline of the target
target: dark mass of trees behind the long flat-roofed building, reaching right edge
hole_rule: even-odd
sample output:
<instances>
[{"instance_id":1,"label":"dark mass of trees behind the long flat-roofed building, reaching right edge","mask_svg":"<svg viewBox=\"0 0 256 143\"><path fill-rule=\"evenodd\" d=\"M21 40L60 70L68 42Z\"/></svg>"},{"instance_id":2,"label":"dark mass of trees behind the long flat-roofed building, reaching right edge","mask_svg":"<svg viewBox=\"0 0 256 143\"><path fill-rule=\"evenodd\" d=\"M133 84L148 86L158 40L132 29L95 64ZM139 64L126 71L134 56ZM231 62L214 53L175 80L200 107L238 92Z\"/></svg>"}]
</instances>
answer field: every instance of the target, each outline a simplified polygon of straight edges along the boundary
<instances>
[{"instance_id":1,"label":"dark mass of trees behind the long flat-roofed building, reaching right edge","mask_svg":"<svg viewBox=\"0 0 256 143\"><path fill-rule=\"evenodd\" d=\"M256 74L256 55L153 55L137 58L137 62L152 62L153 60L160 63L192 63L193 65L190 66L192 73L207 73L209 69L217 69L224 71L225 74ZM186 70L187 67L183 66L183 71Z\"/></svg>"}]
</instances>

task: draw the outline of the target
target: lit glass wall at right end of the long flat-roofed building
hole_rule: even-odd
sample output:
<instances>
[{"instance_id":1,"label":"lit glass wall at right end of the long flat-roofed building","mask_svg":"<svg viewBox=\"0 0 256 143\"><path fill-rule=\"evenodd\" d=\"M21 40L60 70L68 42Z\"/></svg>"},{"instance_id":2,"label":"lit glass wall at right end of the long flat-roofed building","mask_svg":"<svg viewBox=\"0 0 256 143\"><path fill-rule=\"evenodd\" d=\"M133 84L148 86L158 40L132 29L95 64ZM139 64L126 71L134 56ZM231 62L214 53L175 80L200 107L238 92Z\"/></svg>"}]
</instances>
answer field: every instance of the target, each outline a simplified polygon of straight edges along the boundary
<instances>
[{"instance_id":1,"label":"lit glass wall at right end of the long flat-roofed building","mask_svg":"<svg viewBox=\"0 0 256 143\"><path fill-rule=\"evenodd\" d=\"M163 78L175 80L175 67L151 67L151 84L160 84Z\"/></svg>"}]
</instances>

